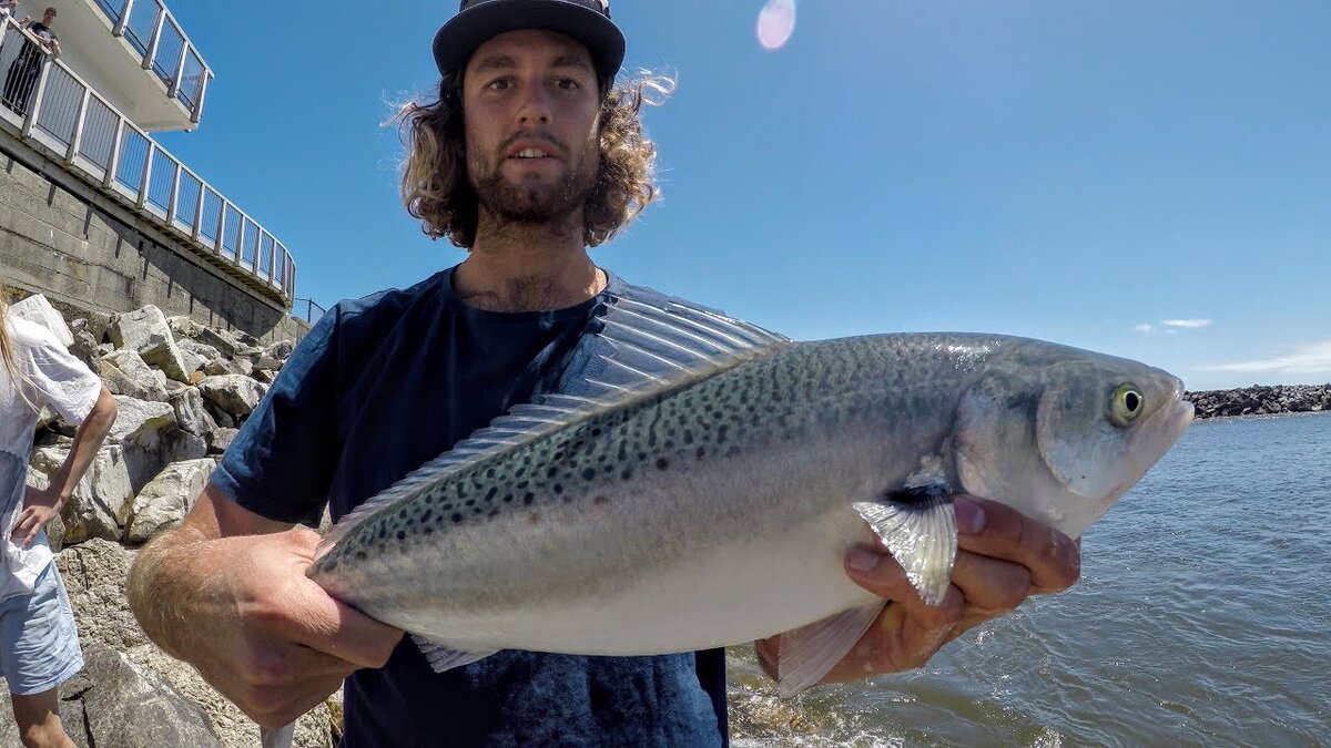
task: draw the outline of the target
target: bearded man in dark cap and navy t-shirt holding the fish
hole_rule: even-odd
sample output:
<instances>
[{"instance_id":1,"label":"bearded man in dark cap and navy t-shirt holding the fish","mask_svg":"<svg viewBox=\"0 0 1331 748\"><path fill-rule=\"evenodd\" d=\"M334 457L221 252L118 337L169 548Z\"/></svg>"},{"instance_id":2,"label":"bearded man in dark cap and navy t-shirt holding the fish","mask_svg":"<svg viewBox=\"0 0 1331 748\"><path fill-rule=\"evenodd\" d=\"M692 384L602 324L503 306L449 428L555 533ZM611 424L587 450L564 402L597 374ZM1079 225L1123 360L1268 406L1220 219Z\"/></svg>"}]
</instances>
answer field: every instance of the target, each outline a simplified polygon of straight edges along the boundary
<instances>
[{"instance_id":1,"label":"bearded man in dark cap and navy t-shirt holding the fish","mask_svg":"<svg viewBox=\"0 0 1331 748\"><path fill-rule=\"evenodd\" d=\"M403 197L457 268L343 302L302 342L185 523L130 574L144 630L261 724L346 677L346 747L717 745L720 650L650 657L504 651L434 673L417 646L309 582L334 519L536 393L568 391L614 297L660 303L596 268L655 196L638 108L611 91L623 36L604 0L465 0L435 37L439 98L411 109ZM848 572L893 600L829 680L916 667L961 631L1075 579L1066 538L958 502L954 590L922 604L881 551ZM988 523L988 524L986 524ZM760 643L769 667L775 640Z\"/></svg>"}]
</instances>

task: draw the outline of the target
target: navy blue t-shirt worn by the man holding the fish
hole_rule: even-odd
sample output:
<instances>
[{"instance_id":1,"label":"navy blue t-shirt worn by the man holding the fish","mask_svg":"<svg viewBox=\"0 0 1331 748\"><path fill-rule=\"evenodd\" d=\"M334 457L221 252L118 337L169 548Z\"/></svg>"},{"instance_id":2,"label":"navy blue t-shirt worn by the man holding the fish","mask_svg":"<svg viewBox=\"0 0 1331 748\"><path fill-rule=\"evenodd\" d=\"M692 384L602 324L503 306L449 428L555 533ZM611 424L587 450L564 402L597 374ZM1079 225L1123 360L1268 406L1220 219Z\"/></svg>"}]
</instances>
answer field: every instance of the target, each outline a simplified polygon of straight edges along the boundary
<instances>
[{"instance_id":1,"label":"navy blue t-shirt worn by the man holding the fish","mask_svg":"<svg viewBox=\"0 0 1331 748\"><path fill-rule=\"evenodd\" d=\"M453 270L329 310L301 341L212 483L270 519L338 519L532 394L558 391L611 295L556 311L463 305ZM677 299L672 299L677 301ZM410 638L346 680L343 748L724 745L721 650L646 657L502 651L443 673Z\"/></svg>"}]
</instances>

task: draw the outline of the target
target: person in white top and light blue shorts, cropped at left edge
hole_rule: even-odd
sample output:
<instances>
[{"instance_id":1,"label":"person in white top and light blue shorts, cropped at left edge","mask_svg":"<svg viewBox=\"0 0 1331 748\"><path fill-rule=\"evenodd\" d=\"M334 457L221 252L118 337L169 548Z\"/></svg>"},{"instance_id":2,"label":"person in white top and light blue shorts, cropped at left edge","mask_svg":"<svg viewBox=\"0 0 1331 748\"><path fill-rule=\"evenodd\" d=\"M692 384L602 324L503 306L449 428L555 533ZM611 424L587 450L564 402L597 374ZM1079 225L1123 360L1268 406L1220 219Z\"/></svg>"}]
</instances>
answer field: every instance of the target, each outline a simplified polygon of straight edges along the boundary
<instances>
[{"instance_id":1,"label":"person in white top and light blue shorts, cropped at left edge","mask_svg":"<svg viewBox=\"0 0 1331 748\"><path fill-rule=\"evenodd\" d=\"M28 453L41 407L79 425L64 465L29 488ZM0 302L0 675L27 747L73 748L56 689L83 669L69 598L45 527L60 514L116 421L101 379L45 327L5 315Z\"/></svg>"}]
</instances>

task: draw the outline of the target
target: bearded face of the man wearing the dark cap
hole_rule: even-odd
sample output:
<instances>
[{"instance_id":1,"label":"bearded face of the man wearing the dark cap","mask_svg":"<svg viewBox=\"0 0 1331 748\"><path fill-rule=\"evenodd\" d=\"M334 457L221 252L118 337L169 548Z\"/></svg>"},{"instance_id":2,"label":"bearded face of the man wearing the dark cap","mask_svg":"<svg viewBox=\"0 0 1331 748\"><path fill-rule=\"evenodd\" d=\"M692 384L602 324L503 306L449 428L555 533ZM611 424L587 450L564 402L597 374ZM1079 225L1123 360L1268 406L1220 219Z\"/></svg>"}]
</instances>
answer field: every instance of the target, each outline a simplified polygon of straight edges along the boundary
<instances>
[{"instance_id":1,"label":"bearded face of the man wearing the dark cap","mask_svg":"<svg viewBox=\"0 0 1331 748\"><path fill-rule=\"evenodd\" d=\"M469 177L490 212L546 222L587 200L600 94L586 47L542 29L490 39L467 61L462 109Z\"/></svg>"}]
</instances>

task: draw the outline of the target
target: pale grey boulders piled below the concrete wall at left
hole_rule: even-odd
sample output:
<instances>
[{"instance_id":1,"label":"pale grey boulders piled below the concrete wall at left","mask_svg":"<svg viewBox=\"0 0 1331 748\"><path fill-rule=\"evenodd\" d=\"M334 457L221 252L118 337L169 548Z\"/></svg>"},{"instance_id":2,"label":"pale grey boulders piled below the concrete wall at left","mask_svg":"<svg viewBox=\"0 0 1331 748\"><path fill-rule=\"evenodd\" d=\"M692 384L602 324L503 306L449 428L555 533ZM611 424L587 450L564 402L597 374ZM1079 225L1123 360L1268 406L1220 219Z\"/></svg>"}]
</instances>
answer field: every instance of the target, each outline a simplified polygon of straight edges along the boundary
<instances>
[{"instance_id":1,"label":"pale grey boulders piled below the concrete wall at left","mask_svg":"<svg viewBox=\"0 0 1331 748\"><path fill-rule=\"evenodd\" d=\"M60 712L80 748L253 747L258 728L189 665L158 650L125 600L136 548L185 516L218 457L268 391L293 343L261 346L154 306L67 321L43 297L11 307L51 329L96 371L120 406L116 426L61 516L48 527L69 590L87 668L61 687ZM45 487L73 427L43 413L28 484ZM334 744L330 708L301 719L295 744ZM0 709L0 748L20 745Z\"/></svg>"}]
</instances>

